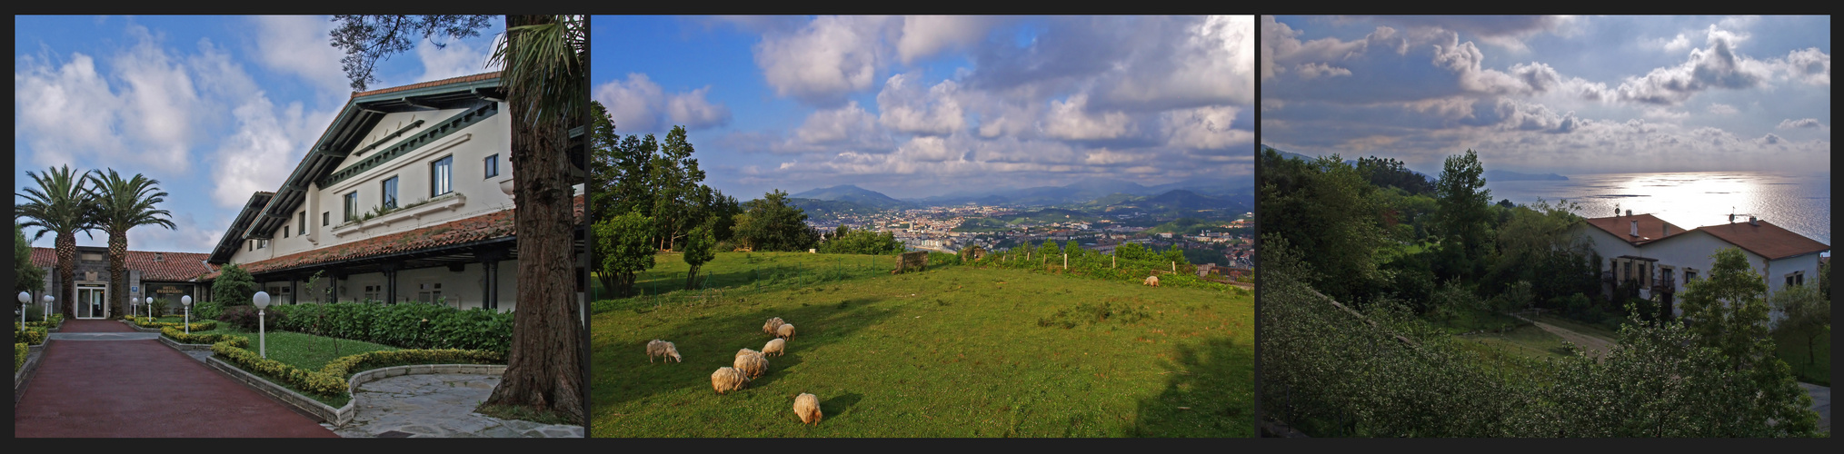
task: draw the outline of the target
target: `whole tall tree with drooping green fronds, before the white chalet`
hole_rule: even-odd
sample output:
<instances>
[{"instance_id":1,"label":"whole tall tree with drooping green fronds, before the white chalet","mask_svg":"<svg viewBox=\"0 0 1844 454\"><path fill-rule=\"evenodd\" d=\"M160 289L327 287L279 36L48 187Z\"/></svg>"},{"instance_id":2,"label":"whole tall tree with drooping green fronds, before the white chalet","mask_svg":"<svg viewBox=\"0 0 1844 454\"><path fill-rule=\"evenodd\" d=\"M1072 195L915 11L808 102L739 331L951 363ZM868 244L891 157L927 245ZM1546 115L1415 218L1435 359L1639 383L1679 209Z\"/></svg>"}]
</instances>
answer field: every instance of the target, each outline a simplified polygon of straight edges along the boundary
<instances>
[{"instance_id":1,"label":"whole tall tree with drooping green fronds, before the white chalet","mask_svg":"<svg viewBox=\"0 0 1844 454\"><path fill-rule=\"evenodd\" d=\"M588 107L583 17L507 15L492 59L513 122L518 203L518 308L505 375L481 406L520 406L583 419L583 314L575 301L575 216L566 153Z\"/></svg>"}]
</instances>

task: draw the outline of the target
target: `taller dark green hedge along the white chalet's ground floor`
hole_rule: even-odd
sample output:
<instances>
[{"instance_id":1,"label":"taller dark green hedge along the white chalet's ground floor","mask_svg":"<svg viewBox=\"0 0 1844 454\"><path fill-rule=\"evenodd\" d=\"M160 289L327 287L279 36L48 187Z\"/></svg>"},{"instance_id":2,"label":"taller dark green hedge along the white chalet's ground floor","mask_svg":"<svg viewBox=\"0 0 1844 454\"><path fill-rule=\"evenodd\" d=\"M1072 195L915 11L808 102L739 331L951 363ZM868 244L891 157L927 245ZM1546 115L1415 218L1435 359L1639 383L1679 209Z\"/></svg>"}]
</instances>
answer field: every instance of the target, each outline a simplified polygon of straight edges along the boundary
<instances>
[{"instance_id":1,"label":"taller dark green hedge along the white chalet's ground floor","mask_svg":"<svg viewBox=\"0 0 1844 454\"><path fill-rule=\"evenodd\" d=\"M277 329L391 345L398 349L459 349L507 352L513 314L487 308L455 310L424 303L332 303L269 306Z\"/></svg>"}]
</instances>

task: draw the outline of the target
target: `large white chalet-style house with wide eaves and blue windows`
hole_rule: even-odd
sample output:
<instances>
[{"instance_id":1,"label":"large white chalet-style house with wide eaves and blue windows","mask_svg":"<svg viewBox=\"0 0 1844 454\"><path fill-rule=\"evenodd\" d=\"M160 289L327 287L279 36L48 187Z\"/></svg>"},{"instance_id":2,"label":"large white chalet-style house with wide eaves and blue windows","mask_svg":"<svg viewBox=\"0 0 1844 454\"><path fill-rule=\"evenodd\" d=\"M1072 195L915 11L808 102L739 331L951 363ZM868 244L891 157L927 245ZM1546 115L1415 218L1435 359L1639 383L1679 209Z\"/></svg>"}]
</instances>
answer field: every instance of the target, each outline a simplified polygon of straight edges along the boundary
<instances>
[{"instance_id":1,"label":"large white chalet-style house with wide eaves and blue windows","mask_svg":"<svg viewBox=\"0 0 1844 454\"><path fill-rule=\"evenodd\" d=\"M251 194L199 281L238 264L275 305L513 310L518 203L500 74L354 92L334 118L288 179ZM568 142L579 170L583 131L570 129ZM581 225L583 185L575 216ZM573 242L586 257L581 227Z\"/></svg>"}]
</instances>

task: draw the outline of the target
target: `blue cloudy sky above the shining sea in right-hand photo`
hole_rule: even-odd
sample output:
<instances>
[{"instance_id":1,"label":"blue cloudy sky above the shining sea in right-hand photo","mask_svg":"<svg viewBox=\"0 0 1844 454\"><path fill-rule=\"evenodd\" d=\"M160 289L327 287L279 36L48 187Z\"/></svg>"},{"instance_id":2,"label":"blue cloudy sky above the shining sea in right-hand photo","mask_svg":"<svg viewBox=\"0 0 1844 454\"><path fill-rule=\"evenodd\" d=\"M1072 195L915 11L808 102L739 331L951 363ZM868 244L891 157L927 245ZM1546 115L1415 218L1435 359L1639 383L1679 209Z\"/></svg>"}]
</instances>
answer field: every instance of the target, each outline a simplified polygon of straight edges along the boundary
<instances>
[{"instance_id":1,"label":"blue cloudy sky above the shining sea in right-hand photo","mask_svg":"<svg viewBox=\"0 0 1844 454\"><path fill-rule=\"evenodd\" d=\"M1261 142L1438 172L1831 166L1829 17L1263 17Z\"/></svg>"}]
</instances>

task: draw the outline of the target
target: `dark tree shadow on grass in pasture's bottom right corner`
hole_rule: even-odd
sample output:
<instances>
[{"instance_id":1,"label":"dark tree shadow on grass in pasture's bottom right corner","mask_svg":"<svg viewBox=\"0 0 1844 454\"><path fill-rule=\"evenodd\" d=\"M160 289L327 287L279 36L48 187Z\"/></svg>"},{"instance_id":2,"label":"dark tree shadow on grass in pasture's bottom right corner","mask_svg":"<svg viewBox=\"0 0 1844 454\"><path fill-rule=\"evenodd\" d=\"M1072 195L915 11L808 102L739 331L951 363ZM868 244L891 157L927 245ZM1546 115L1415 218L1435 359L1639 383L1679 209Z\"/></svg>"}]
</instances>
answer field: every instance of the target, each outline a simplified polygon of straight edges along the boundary
<instances>
[{"instance_id":1,"label":"dark tree shadow on grass in pasture's bottom right corner","mask_svg":"<svg viewBox=\"0 0 1844 454\"><path fill-rule=\"evenodd\" d=\"M1165 389L1140 400L1138 437L1254 436L1254 347L1235 340L1178 345L1164 362ZM1180 408L1186 406L1186 408Z\"/></svg>"}]
</instances>

